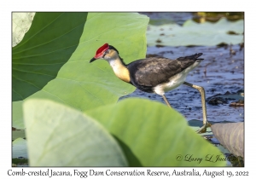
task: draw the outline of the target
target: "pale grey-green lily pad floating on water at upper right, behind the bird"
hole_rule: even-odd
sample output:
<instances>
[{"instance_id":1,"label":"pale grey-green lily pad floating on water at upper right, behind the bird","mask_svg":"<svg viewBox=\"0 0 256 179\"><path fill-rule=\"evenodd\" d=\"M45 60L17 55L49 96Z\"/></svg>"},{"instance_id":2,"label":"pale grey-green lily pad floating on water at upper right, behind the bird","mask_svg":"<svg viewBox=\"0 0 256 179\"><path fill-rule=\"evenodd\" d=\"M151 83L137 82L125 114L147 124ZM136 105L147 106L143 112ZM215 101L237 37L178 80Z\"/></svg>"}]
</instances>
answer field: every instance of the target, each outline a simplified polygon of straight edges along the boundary
<instances>
[{"instance_id":1,"label":"pale grey-green lily pad floating on water at upper right, behind the bird","mask_svg":"<svg viewBox=\"0 0 256 179\"><path fill-rule=\"evenodd\" d=\"M201 24L187 20L183 26L166 24L148 25L148 46L213 46L219 43L238 44L243 40L243 20L231 22L222 18L218 22ZM230 34L235 32L236 35Z\"/></svg>"}]
</instances>

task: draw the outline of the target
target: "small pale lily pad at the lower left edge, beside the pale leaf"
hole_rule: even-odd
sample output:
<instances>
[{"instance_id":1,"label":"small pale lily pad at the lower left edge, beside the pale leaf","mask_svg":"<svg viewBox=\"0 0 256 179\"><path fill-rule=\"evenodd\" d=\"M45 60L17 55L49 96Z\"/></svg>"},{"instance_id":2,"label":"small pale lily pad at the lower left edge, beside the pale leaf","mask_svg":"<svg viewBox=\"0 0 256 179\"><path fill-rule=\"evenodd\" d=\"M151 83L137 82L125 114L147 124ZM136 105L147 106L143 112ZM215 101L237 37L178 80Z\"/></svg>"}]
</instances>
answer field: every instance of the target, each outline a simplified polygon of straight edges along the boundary
<instances>
[{"instance_id":1,"label":"small pale lily pad at the lower left edge, beside the pale leaf","mask_svg":"<svg viewBox=\"0 0 256 179\"><path fill-rule=\"evenodd\" d=\"M22 138L17 138L13 141L12 144L12 159L15 158L26 158L27 159L27 147L26 147L26 140Z\"/></svg>"}]
</instances>

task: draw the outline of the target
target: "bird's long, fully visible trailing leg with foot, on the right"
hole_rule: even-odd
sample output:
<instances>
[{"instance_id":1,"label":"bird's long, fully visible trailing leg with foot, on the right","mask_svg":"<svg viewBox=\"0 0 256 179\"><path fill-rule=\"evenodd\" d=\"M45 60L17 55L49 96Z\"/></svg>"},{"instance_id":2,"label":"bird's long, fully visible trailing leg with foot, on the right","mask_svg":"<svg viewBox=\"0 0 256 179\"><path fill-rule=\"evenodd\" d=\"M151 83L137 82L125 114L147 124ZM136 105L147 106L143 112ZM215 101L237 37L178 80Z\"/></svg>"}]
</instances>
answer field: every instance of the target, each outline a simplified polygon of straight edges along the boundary
<instances>
[{"instance_id":1,"label":"bird's long, fully visible trailing leg with foot, on the right","mask_svg":"<svg viewBox=\"0 0 256 179\"><path fill-rule=\"evenodd\" d=\"M190 86L196 90L199 90L201 94L201 106L202 106L202 113L203 113L203 126L197 130L197 133L203 133L207 131L207 127L210 127L211 124L207 120L207 105L206 105L206 93L203 87L197 86L195 84L189 84L188 82L184 82L183 84Z\"/></svg>"}]
</instances>

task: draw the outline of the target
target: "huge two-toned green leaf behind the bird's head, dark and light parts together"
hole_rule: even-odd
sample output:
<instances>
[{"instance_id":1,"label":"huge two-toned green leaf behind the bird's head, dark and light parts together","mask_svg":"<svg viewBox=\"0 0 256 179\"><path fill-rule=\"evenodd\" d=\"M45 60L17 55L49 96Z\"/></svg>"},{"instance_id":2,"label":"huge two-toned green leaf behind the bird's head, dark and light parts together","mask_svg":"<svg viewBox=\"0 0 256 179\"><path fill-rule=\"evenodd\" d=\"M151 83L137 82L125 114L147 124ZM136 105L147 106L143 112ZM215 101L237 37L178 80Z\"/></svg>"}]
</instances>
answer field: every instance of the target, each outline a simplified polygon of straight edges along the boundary
<instances>
[{"instance_id":1,"label":"huge two-toned green leaf behind the bird's head, dark and light parts together","mask_svg":"<svg viewBox=\"0 0 256 179\"><path fill-rule=\"evenodd\" d=\"M13 48L13 101L44 98L85 111L131 93L106 61L89 61L103 43L126 62L145 57L147 24L137 13L37 13Z\"/></svg>"}]
</instances>

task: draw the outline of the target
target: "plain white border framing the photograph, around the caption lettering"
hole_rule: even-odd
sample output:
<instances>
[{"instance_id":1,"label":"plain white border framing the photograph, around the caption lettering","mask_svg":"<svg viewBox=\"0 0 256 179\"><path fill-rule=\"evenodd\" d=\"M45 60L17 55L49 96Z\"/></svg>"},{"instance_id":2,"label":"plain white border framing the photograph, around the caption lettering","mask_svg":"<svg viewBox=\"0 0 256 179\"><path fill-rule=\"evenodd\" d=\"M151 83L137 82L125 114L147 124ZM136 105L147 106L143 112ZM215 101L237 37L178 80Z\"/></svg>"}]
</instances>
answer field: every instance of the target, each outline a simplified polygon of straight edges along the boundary
<instances>
[{"instance_id":1,"label":"plain white border framing the photograph, around the caption lettering","mask_svg":"<svg viewBox=\"0 0 256 179\"><path fill-rule=\"evenodd\" d=\"M251 3L252 2L252 3ZM255 55L255 5L253 1L235 1L235 0L215 0L215 1L5 1L1 4L1 65L0 65L0 83L1 83L1 152L0 152L0 176L8 176L8 170L21 170L21 168L11 167L11 12L12 11L126 11L126 12L157 12L157 11L172 11L172 12L196 12L196 11L245 11L245 128L246 128L246 146L245 146L245 167L244 168L224 168L230 171L249 171L249 176L255 175L255 148L254 141L254 72L256 63L254 64ZM228 67L228 66L227 66ZM25 168L24 170L40 170L41 168ZM54 168L55 170L70 170L74 168ZM81 168L90 170L93 168ZM105 170L107 168L96 168L95 170ZM110 168L111 170L125 170L124 168ZM147 170L149 168L137 168L137 170ZM152 168L152 170L192 170L192 168ZM46 168L42 168L46 170ZM127 170L133 170L128 168ZM195 168L201 173L205 168ZM207 170L223 170L223 168L207 168ZM15 178L18 176L9 176ZM92 177L92 176L90 176ZM119 176L118 176L119 177ZM128 176L125 176L127 178ZM134 176L136 177L136 176ZM154 176L155 178L156 176ZM163 176L161 176L163 177ZM190 176L195 178L196 176ZM198 176L197 176L198 177ZM2 177L1 177L2 178ZM6 178L6 177L4 177ZM33 177L34 178L34 177ZM41 177L42 178L42 177ZM63 176L55 178L65 178ZM70 177L69 177L70 178ZM77 177L80 178L80 177ZM94 178L102 178L97 176ZM111 176L113 178L113 176ZM117 177L116 177L117 178ZM138 178L138 177L137 177ZM140 176L140 178L148 178L148 176ZM158 177L160 178L160 177ZM218 178L216 176L215 178Z\"/></svg>"}]
</instances>

